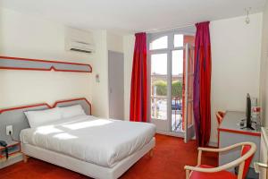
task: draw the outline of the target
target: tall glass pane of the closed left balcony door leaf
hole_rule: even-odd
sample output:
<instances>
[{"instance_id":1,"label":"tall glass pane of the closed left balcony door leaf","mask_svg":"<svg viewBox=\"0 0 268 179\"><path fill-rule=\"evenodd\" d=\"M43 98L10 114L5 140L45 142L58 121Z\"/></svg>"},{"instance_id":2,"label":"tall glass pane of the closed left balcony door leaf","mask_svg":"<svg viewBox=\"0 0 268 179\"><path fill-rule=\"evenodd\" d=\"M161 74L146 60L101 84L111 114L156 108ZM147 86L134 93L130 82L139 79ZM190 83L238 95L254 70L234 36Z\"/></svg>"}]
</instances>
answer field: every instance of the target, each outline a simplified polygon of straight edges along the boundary
<instances>
[{"instance_id":1,"label":"tall glass pane of the closed left balcony door leaf","mask_svg":"<svg viewBox=\"0 0 268 179\"><path fill-rule=\"evenodd\" d=\"M167 120L167 54L151 55L151 118ZM161 125L161 124L159 124ZM164 126L157 126L164 128Z\"/></svg>"}]
</instances>

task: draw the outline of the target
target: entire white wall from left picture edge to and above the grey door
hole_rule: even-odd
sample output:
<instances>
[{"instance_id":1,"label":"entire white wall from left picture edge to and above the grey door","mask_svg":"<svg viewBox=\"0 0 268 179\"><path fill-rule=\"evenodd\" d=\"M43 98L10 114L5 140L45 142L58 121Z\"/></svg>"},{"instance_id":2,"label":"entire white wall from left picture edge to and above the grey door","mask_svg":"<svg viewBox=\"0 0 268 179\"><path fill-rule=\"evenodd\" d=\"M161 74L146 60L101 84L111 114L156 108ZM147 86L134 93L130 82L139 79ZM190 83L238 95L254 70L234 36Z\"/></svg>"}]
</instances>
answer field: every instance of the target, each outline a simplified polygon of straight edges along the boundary
<instances>
[{"instance_id":1,"label":"entire white wall from left picture edge to and above the grey door","mask_svg":"<svg viewBox=\"0 0 268 179\"><path fill-rule=\"evenodd\" d=\"M0 14L1 55L86 63L93 68L92 73L1 70L1 108L86 97L92 103L93 115L109 116L107 52L108 45L111 50L122 51L120 36L108 37L106 30L95 30L94 54L69 52L64 49L63 24L8 9L0 9Z\"/></svg>"}]
</instances>

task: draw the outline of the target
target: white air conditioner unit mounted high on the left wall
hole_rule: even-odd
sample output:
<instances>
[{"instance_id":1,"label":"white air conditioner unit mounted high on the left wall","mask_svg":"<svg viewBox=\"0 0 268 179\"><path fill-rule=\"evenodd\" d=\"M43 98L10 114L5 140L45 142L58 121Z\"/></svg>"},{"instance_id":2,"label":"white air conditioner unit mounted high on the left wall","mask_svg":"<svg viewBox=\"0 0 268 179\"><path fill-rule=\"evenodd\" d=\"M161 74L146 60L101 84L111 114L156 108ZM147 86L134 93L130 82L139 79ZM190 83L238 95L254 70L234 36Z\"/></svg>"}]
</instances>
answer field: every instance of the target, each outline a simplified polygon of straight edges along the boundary
<instances>
[{"instance_id":1,"label":"white air conditioner unit mounted high on the left wall","mask_svg":"<svg viewBox=\"0 0 268 179\"><path fill-rule=\"evenodd\" d=\"M65 35L65 49L91 54L95 52L92 34L84 30L67 28Z\"/></svg>"}]
</instances>

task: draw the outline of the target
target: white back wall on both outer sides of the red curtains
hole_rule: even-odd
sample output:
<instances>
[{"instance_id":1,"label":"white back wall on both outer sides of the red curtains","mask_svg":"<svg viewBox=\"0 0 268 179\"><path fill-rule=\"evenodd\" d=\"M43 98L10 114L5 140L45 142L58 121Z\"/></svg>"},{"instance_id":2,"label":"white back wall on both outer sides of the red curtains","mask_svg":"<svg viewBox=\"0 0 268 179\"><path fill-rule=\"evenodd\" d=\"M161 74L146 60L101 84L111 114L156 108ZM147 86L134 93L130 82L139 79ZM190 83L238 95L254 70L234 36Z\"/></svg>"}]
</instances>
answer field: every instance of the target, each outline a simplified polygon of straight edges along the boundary
<instances>
[{"instance_id":1,"label":"white back wall on both outer sides of the red curtains","mask_svg":"<svg viewBox=\"0 0 268 179\"><path fill-rule=\"evenodd\" d=\"M245 111L247 92L259 97L262 13L237 17L210 24L212 45L212 135L217 141L217 110ZM125 60L125 119L130 114L130 81L135 38L123 38Z\"/></svg>"}]
</instances>

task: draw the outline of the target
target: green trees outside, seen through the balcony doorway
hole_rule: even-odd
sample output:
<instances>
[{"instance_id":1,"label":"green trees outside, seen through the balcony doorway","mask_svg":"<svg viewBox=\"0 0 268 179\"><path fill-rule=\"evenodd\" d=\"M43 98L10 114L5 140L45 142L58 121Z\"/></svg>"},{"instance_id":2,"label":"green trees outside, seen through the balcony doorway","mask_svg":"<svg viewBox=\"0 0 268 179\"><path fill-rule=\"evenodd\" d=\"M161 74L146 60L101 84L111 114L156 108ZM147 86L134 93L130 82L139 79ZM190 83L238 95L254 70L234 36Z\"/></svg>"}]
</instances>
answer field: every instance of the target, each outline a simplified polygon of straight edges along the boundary
<instances>
[{"instance_id":1,"label":"green trees outside, seen through the balcony doorway","mask_svg":"<svg viewBox=\"0 0 268 179\"><path fill-rule=\"evenodd\" d=\"M166 81L155 81L154 86L156 86L157 96L167 95L167 82ZM182 82L172 81L172 96L182 98Z\"/></svg>"}]
</instances>

